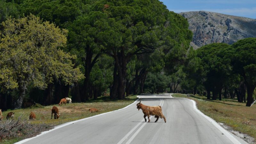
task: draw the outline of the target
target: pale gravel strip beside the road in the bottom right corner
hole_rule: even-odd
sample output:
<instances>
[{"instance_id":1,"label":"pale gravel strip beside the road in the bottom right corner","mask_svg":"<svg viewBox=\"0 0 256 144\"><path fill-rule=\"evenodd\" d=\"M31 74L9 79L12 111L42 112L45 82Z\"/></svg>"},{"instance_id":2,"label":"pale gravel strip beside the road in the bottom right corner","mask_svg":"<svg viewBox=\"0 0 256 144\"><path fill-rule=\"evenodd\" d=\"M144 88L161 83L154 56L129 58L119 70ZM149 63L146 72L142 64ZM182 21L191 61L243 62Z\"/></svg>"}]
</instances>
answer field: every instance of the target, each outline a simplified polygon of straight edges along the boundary
<instances>
[{"instance_id":1,"label":"pale gravel strip beside the road in the bottom right corner","mask_svg":"<svg viewBox=\"0 0 256 144\"><path fill-rule=\"evenodd\" d=\"M242 132L238 132L238 131L234 131L230 126L227 126L223 123L219 123L224 129L228 130L229 132L235 134L236 136L238 136L239 138L243 139L244 141L246 141L249 144L255 144L254 142L254 138L250 137L249 135L242 133Z\"/></svg>"}]
</instances>

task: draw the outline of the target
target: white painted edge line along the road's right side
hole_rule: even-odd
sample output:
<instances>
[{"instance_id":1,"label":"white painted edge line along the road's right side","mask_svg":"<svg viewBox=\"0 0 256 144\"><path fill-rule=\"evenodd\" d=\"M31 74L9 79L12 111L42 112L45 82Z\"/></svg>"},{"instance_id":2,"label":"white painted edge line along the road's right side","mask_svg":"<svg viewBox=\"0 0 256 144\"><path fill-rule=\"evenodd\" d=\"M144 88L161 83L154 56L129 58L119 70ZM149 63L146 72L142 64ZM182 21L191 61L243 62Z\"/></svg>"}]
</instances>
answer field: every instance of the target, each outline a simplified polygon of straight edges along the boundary
<instances>
[{"instance_id":1,"label":"white painted edge line along the road's right side","mask_svg":"<svg viewBox=\"0 0 256 144\"><path fill-rule=\"evenodd\" d=\"M191 100L191 99L188 99ZM220 132L225 134L225 136L228 137L229 140L231 140L234 144L241 144L235 137L233 137L227 130L225 130L223 127L221 127L215 120L213 120L211 117L204 115L199 109L196 107L196 101L191 100L193 102L194 109L202 116L204 116L208 121L210 121L215 127L217 127Z\"/></svg>"}]
</instances>

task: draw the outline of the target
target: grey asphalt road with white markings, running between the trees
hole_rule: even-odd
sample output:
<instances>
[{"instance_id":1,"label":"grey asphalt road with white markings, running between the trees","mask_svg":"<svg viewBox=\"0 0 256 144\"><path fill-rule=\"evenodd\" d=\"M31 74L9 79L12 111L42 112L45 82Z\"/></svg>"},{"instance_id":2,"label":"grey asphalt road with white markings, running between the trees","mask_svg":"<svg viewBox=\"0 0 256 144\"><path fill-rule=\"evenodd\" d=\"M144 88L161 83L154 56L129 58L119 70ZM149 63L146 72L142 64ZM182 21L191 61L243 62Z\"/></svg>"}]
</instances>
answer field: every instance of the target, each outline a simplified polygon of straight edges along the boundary
<instances>
[{"instance_id":1,"label":"grey asphalt road with white markings, running between the trees","mask_svg":"<svg viewBox=\"0 0 256 144\"><path fill-rule=\"evenodd\" d=\"M26 144L221 144L246 143L195 109L192 100L169 95L139 96L148 106L161 105L164 119L144 121L144 114L133 103L127 108L60 127L26 141ZM210 119L210 120L209 120ZM216 124L215 124L216 123ZM215 125L214 125L215 124ZM21 143L21 142L20 142Z\"/></svg>"}]
</instances>

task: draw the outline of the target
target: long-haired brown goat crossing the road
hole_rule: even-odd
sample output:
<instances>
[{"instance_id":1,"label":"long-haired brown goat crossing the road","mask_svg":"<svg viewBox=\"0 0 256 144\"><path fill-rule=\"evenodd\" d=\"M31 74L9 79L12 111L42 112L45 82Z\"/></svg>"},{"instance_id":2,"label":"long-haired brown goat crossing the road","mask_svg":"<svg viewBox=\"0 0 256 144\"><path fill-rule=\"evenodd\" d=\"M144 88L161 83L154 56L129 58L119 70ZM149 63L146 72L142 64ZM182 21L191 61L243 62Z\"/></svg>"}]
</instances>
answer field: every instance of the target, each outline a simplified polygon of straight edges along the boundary
<instances>
[{"instance_id":1,"label":"long-haired brown goat crossing the road","mask_svg":"<svg viewBox=\"0 0 256 144\"><path fill-rule=\"evenodd\" d=\"M166 119L162 113L161 106L150 107L150 106L143 105L140 102L137 103L136 106L137 106L138 110L142 109L142 112L144 113L145 122L147 122L146 116L148 116L148 122L150 122L149 116L155 116L155 118L156 118L155 122L157 122L160 117L160 118L164 118L164 122L166 123Z\"/></svg>"}]
</instances>

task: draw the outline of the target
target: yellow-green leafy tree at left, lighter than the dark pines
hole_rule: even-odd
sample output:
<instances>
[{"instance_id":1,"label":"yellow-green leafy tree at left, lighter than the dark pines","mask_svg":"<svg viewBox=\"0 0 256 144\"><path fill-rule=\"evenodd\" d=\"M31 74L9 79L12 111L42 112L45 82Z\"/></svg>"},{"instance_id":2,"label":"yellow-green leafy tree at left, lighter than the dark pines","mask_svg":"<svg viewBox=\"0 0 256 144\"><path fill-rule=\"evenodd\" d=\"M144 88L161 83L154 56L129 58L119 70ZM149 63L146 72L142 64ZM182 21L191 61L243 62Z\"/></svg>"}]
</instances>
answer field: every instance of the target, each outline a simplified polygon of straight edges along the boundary
<instances>
[{"instance_id":1,"label":"yellow-green leafy tree at left, lighter than the dark pines","mask_svg":"<svg viewBox=\"0 0 256 144\"><path fill-rule=\"evenodd\" d=\"M29 15L21 19L8 18L3 24L0 43L1 69L10 72L0 77L12 81L19 90L15 108L21 108L28 84L40 89L52 83L53 78L62 78L65 84L72 84L83 78L78 68L73 68L75 56L60 50L66 46L67 30L56 28L48 21ZM8 78L7 78L8 77ZM9 83L9 84L8 84Z\"/></svg>"}]
</instances>

